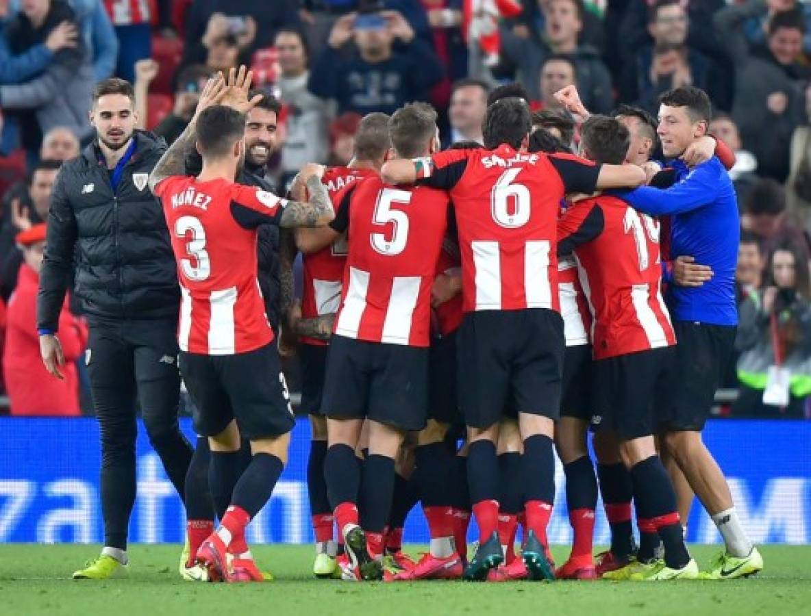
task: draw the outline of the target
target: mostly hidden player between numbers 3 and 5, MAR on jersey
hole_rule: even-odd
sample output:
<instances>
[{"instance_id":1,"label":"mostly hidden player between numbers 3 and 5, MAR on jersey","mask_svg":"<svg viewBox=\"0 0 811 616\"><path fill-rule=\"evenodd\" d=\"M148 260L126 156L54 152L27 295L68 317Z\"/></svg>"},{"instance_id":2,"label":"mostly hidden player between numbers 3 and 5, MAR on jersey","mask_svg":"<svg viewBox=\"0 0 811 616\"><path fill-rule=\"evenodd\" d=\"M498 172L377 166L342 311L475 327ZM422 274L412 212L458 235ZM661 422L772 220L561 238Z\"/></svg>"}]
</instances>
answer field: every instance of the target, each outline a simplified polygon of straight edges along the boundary
<instances>
[{"instance_id":1,"label":"mostly hidden player between numbers 3 and 5, MAR on jersey","mask_svg":"<svg viewBox=\"0 0 811 616\"><path fill-rule=\"evenodd\" d=\"M358 125L354 135L354 156L346 167L330 167L321 182L327 186L333 208L338 211L347 186L361 178L371 178L380 167L391 147L388 137L388 115L369 113ZM301 182L294 183L294 195ZM303 296L301 309L290 319L291 330L298 334L298 357L302 372L302 401L300 409L310 418L312 440L307 459L307 491L315 533L316 577L328 578L338 573L337 545L333 539L333 510L327 498L324 480L324 458L327 456L327 418L321 414L321 395L327 365L329 337L333 319L341 302L341 281L344 276L347 244L338 237L322 246L314 229L296 229L295 243L303 255Z\"/></svg>"}]
</instances>

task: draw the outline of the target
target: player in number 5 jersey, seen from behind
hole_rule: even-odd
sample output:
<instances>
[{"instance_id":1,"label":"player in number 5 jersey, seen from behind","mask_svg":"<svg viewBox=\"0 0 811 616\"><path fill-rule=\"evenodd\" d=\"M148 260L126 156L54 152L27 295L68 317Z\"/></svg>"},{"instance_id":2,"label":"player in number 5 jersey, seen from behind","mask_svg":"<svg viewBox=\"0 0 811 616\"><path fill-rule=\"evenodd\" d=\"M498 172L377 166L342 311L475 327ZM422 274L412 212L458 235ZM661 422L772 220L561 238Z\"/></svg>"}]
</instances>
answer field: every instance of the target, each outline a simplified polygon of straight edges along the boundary
<instances>
[{"instance_id":1,"label":"player in number 5 jersey, seen from behind","mask_svg":"<svg viewBox=\"0 0 811 616\"><path fill-rule=\"evenodd\" d=\"M436 112L405 105L393 114L389 134L396 156L429 156L439 147ZM338 213L326 239L348 229L350 242L324 383L325 473L350 558L345 579L380 580L395 458L405 432L426 421L431 285L448 198L367 178L350 186ZM361 485L355 449L364 419L369 455Z\"/></svg>"}]
</instances>

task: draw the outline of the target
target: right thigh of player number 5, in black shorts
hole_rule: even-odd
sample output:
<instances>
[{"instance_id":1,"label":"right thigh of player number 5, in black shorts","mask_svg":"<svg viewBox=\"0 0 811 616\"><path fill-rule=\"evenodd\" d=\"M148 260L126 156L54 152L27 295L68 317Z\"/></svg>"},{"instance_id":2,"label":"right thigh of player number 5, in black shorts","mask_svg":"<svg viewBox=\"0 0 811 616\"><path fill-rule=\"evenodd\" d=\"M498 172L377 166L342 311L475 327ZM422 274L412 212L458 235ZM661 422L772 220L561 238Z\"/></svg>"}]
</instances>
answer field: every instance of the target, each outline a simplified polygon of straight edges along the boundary
<instances>
[{"instance_id":1,"label":"right thigh of player number 5, in black shorts","mask_svg":"<svg viewBox=\"0 0 811 616\"><path fill-rule=\"evenodd\" d=\"M367 417L396 430L422 430L428 411L428 349L375 344L372 350Z\"/></svg>"}]
</instances>

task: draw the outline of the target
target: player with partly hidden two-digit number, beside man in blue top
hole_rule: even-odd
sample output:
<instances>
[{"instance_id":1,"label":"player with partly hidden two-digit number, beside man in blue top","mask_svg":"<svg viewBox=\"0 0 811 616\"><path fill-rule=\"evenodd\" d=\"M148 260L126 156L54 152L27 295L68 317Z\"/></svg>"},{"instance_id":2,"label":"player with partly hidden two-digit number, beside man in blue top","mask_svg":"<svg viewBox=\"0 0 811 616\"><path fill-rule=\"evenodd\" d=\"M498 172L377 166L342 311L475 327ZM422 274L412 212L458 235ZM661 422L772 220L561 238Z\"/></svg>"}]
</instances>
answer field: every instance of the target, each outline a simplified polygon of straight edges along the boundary
<instances>
[{"instance_id":1,"label":"player with partly hidden two-digit number, beside man in blue top","mask_svg":"<svg viewBox=\"0 0 811 616\"><path fill-rule=\"evenodd\" d=\"M628 146L629 131L614 118L591 116L581 126L581 149L591 160L621 163ZM613 573L645 580L697 578L697 564L681 533L676 493L653 437L654 404L662 400L676 344L660 291L659 223L603 195L566 210L558 241L559 253L574 249L594 313L592 423L596 430L616 434L631 474L638 524L655 531L664 544L664 563L640 561L636 569Z\"/></svg>"}]
</instances>

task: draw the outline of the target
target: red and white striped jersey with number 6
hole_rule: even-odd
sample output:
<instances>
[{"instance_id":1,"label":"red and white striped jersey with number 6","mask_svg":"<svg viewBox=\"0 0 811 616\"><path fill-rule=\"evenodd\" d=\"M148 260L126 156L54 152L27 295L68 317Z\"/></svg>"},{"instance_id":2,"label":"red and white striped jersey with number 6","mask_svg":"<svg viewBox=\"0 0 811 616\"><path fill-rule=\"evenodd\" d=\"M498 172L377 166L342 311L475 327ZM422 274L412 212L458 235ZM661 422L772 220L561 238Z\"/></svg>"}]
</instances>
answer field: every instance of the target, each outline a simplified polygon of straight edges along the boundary
<instances>
[{"instance_id":1,"label":"red and white striped jersey with number 6","mask_svg":"<svg viewBox=\"0 0 811 616\"><path fill-rule=\"evenodd\" d=\"M418 184L448 190L464 310L560 310L556 224L569 192L594 192L599 165L567 154L449 150L414 160Z\"/></svg>"}]
</instances>

